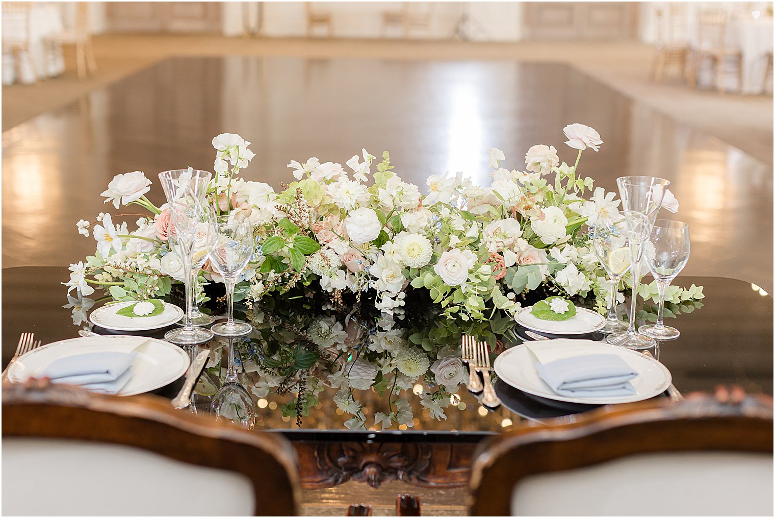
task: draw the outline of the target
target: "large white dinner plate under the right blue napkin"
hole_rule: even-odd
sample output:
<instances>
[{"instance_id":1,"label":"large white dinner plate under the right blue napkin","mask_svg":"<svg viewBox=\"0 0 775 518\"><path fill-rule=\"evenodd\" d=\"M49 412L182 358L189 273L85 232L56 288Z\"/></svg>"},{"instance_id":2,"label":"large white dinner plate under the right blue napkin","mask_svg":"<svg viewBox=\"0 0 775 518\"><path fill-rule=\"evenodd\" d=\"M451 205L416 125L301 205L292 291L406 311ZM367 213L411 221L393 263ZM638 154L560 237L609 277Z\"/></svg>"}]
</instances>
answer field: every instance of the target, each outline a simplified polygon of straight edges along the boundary
<instances>
[{"instance_id":1,"label":"large white dinner plate under the right blue napkin","mask_svg":"<svg viewBox=\"0 0 775 518\"><path fill-rule=\"evenodd\" d=\"M663 364L646 356L646 354L618 347L610 344L603 344L593 340L570 340L560 338L550 340L568 344L574 342L574 345L580 348L581 354L616 354L621 357L630 367L635 369L638 375L630 380L636 393L632 395L618 395L615 397L570 397L559 395L549 385L541 379L536 371L536 357L529 351L527 344L521 344L511 347L495 358L493 365L498 378L515 389L522 390L528 394L538 395L546 399L555 401L567 401L571 403L584 403L586 405L611 405L613 403L631 403L653 398L660 395L670 386L671 376ZM549 344L549 341L542 341L541 344Z\"/></svg>"}]
</instances>

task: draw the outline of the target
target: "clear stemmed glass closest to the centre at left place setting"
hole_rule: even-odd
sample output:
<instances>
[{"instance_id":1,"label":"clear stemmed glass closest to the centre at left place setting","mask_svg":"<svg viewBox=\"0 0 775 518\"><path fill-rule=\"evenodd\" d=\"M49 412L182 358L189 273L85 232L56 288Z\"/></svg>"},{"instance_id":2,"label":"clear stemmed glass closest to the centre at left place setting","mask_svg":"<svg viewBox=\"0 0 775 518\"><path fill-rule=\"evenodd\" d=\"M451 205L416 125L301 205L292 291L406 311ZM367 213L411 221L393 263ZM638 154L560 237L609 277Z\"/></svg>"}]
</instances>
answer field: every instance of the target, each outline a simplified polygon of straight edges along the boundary
<instances>
[{"instance_id":1,"label":"clear stemmed glass closest to the centre at left place setting","mask_svg":"<svg viewBox=\"0 0 775 518\"><path fill-rule=\"evenodd\" d=\"M253 225L233 216L214 216L211 225L214 239L207 243L210 264L223 277L229 306L226 323L215 324L212 332L221 337L241 337L253 326L234 319L234 285L253 255Z\"/></svg>"}]
</instances>

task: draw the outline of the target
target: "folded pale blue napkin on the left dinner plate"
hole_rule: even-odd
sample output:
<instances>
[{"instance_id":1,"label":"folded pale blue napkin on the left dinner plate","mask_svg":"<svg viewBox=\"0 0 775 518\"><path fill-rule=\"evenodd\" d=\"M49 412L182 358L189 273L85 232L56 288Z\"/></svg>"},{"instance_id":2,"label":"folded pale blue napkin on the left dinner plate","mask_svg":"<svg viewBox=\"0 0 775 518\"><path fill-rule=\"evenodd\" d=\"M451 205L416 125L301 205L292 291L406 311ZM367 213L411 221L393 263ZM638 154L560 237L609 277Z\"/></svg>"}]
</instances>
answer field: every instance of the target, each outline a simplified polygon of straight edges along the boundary
<instances>
[{"instance_id":1,"label":"folded pale blue napkin on the left dinner plate","mask_svg":"<svg viewBox=\"0 0 775 518\"><path fill-rule=\"evenodd\" d=\"M115 351L74 354L52 361L40 372L40 376L51 378L53 383L81 385L94 392L115 394L132 377L129 367L136 354Z\"/></svg>"}]
</instances>

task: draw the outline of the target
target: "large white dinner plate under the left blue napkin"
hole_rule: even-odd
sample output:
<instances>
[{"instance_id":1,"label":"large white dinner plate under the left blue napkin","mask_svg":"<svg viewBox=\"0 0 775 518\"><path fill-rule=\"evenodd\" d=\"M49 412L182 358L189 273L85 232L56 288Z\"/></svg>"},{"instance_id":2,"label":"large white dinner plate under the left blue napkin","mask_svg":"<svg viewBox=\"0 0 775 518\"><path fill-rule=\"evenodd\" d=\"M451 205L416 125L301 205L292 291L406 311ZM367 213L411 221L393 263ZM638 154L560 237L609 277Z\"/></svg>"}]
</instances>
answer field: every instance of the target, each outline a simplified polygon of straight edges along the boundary
<instances>
[{"instance_id":1,"label":"large white dinner plate under the left blue napkin","mask_svg":"<svg viewBox=\"0 0 775 518\"><path fill-rule=\"evenodd\" d=\"M118 395L135 395L160 389L184 375L190 362L188 354L181 347L156 338L122 335L70 338L43 345L22 355L9 368L8 378L12 383L25 382L61 357L105 351L137 352L132 362L132 377Z\"/></svg>"}]
</instances>

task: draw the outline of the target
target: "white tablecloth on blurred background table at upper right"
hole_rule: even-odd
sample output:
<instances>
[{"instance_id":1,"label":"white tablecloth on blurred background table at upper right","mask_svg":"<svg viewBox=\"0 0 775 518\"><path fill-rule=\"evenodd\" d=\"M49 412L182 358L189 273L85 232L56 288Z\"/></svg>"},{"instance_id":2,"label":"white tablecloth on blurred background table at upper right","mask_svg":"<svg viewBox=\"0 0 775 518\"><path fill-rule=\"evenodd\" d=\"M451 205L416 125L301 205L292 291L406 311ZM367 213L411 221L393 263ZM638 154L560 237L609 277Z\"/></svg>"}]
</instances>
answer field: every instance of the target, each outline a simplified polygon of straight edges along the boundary
<instances>
[{"instance_id":1,"label":"white tablecloth on blurred background table at upper right","mask_svg":"<svg viewBox=\"0 0 775 518\"><path fill-rule=\"evenodd\" d=\"M696 23L696 20L694 20ZM698 28L689 31L690 43L698 45ZM725 45L728 49L739 49L742 53L742 88L743 94L761 94L766 71L767 53L773 51L773 18L763 16L760 19L739 16L729 20ZM700 71L699 82L702 85L712 84L715 78L709 73L709 67ZM728 92L738 91L737 74L729 72L725 75L725 88Z\"/></svg>"}]
</instances>

